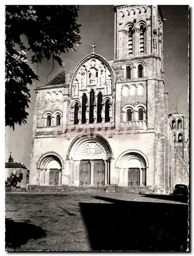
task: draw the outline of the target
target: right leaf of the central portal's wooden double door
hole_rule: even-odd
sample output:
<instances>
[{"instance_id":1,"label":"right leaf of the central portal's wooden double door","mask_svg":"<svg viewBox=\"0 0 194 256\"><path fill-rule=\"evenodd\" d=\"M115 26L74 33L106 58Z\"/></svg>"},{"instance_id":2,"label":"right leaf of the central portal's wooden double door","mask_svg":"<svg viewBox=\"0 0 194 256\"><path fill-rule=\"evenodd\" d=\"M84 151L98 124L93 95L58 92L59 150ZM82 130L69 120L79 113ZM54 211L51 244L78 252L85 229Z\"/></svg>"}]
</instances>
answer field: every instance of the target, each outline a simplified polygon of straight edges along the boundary
<instances>
[{"instance_id":1,"label":"right leaf of the central portal's wooden double door","mask_svg":"<svg viewBox=\"0 0 194 256\"><path fill-rule=\"evenodd\" d=\"M94 161L94 186L105 185L105 164L103 160Z\"/></svg>"}]
</instances>

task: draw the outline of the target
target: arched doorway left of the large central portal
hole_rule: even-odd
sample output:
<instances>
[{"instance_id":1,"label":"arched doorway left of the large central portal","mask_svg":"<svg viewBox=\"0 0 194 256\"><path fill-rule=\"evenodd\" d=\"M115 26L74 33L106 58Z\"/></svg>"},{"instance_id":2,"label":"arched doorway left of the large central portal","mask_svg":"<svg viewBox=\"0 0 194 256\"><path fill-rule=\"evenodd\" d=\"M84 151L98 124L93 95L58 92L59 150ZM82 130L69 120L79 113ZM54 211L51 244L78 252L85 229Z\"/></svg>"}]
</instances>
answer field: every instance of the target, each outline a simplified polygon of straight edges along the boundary
<instances>
[{"instance_id":1,"label":"arched doorway left of the large central portal","mask_svg":"<svg viewBox=\"0 0 194 256\"><path fill-rule=\"evenodd\" d=\"M37 163L38 184L42 186L61 185L63 165L63 160L57 153L48 152L42 155Z\"/></svg>"}]
</instances>

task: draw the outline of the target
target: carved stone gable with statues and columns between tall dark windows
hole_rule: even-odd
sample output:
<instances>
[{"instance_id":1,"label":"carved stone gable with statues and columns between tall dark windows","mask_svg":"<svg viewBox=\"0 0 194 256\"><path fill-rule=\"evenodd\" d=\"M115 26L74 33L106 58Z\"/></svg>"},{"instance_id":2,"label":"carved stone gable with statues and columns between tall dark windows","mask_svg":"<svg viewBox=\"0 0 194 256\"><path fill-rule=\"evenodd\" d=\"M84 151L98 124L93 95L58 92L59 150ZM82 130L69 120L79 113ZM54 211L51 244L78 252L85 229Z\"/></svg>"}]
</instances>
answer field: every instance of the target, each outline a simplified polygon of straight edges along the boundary
<instances>
[{"instance_id":1,"label":"carved stone gable with statues and columns between tall dark windows","mask_svg":"<svg viewBox=\"0 0 194 256\"><path fill-rule=\"evenodd\" d=\"M113 82L115 80L115 75L113 73L113 70L109 66L109 64L100 56L97 54L91 54L88 58L85 58L78 67L76 68L73 77L72 82L70 84L70 102L68 104L68 122L73 123L73 110L72 103L74 102L75 98L80 98L81 95L79 93L79 90L87 90L87 104L86 104L86 111L85 111L85 119L86 123L89 123L89 104L88 100L90 99L90 90L91 87L98 91L98 88L104 88L104 94L105 95L111 95L112 91L115 88L115 83ZM97 93L96 93L97 94ZM103 93L102 93L103 94ZM111 96L112 98L112 96ZM94 102L94 105L96 103ZM80 109L82 111L82 109ZM97 113L95 112L96 108L94 108L94 121L97 120ZM104 110L102 110L103 112ZM113 109L114 111L114 109ZM79 113L78 113L79 114ZM79 114L80 115L80 114ZM102 116L104 114L102 113ZM113 114L114 115L114 114ZM78 118L79 119L79 118Z\"/></svg>"}]
</instances>

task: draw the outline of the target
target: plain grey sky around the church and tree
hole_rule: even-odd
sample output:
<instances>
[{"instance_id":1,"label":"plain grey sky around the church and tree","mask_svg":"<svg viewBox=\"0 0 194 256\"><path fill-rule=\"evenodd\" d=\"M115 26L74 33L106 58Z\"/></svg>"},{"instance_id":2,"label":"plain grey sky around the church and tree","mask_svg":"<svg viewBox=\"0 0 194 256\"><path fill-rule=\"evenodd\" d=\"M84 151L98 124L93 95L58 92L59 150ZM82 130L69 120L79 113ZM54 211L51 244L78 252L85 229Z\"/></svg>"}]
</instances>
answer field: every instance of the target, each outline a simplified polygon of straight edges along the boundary
<instances>
[{"instance_id":1,"label":"plain grey sky around the church and tree","mask_svg":"<svg viewBox=\"0 0 194 256\"><path fill-rule=\"evenodd\" d=\"M106 60L114 59L114 6L80 6L78 22L82 25L81 45L76 51L69 50L61 55L66 71L76 68L77 63L92 52L91 45L96 42L96 53ZM176 99L178 110L188 115L188 6L161 6L163 17L164 40L164 81L168 92L168 112L175 110ZM36 71L35 65L30 66ZM15 131L6 127L5 161L8 161L10 151L14 161L21 162L30 169L30 154L32 142L32 122L35 102L34 89L51 80L61 67L46 60L38 67L39 81L30 86L31 103L27 124L16 125ZM49 77L48 77L49 75ZM13 106L14 107L14 106Z\"/></svg>"}]
</instances>

